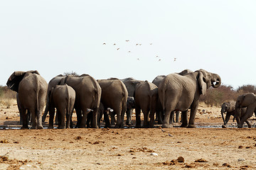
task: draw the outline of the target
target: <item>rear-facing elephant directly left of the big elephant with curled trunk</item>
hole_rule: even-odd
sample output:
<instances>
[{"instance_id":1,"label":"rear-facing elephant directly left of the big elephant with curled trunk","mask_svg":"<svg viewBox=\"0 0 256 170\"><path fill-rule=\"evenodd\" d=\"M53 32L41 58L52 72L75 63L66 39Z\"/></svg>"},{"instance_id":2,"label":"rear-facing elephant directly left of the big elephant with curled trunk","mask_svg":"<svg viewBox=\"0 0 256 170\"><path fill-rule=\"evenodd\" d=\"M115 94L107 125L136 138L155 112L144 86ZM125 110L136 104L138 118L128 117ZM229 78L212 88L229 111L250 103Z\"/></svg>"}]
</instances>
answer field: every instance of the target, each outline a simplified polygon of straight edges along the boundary
<instances>
[{"instance_id":1,"label":"rear-facing elephant directly left of the big elephant with curled trunk","mask_svg":"<svg viewBox=\"0 0 256 170\"><path fill-rule=\"evenodd\" d=\"M136 112L135 128L141 128L141 110L144 115L142 127L154 128L154 113L156 112L156 104L158 100L158 87L149 81L140 82L135 88L134 100Z\"/></svg>"}]
</instances>

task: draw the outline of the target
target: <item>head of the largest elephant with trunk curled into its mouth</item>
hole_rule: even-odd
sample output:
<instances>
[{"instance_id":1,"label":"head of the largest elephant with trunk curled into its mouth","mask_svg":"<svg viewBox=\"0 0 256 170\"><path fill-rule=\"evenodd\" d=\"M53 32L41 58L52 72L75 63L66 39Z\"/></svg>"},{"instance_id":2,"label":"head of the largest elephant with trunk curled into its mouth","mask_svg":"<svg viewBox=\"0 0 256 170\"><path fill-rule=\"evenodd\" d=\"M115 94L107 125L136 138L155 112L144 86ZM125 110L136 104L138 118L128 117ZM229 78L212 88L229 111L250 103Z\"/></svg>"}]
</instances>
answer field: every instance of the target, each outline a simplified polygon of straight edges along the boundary
<instances>
[{"instance_id":1,"label":"head of the largest elephant with trunk curled into its mouth","mask_svg":"<svg viewBox=\"0 0 256 170\"><path fill-rule=\"evenodd\" d=\"M210 86L213 88L218 88L221 84L221 79L218 74L213 74L206 72L204 69L199 69L196 71L198 73L198 85L201 91L201 94L206 95L206 89Z\"/></svg>"}]
</instances>

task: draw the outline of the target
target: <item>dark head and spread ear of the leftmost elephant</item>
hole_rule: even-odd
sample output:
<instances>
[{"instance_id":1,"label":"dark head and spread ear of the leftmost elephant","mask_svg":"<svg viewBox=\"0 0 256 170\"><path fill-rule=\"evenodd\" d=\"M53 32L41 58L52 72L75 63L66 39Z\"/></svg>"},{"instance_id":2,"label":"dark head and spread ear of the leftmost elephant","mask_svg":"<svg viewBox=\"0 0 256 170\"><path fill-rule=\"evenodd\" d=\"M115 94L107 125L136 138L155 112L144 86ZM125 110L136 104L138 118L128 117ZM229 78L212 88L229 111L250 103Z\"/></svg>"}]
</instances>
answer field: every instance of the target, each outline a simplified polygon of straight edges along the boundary
<instances>
[{"instance_id":1,"label":"dark head and spread ear of the leftmost elephant","mask_svg":"<svg viewBox=\"0 0 256 170\"><path fill-rule=\"evenodd\" d=\"M14 72L13 74L11 74L11 76L9 77L6 85L10 87L11 90L16 91L18 93L18 85L21 82L21 80L28 76L29 74L38 74L37 70L31 70L28 72Z\"/></svg>"}]
</instances>

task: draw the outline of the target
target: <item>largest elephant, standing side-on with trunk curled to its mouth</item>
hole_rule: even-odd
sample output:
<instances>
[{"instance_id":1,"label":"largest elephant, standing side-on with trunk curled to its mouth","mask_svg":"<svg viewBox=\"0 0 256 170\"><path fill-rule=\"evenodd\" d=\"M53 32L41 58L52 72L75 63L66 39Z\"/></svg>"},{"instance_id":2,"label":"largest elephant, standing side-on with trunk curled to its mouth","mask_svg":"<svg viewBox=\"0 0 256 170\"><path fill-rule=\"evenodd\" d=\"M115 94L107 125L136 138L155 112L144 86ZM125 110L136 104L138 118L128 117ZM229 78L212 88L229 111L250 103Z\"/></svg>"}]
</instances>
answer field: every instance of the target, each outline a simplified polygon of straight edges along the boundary
<instances>
[{"instance_id":1,"label":"largest elephant, standing side-on with trunk curled to its mouth","mask_svg":"<svg viewBox=\"0 0 256 170\"><path fill-rule=\"evenodd\" d=\"M170 128L171 112L181 111L181 127L196 128L194 123L200 95L206 95L206 89L210 86L217 88L220 84L221 79L218 74L206 72L204 69L199 69L184 76L179 74L167 75L159 84L159 98L165 111L162 126ZM188 108L191 108L189 122Z\"/></svg>"}]
</instances>

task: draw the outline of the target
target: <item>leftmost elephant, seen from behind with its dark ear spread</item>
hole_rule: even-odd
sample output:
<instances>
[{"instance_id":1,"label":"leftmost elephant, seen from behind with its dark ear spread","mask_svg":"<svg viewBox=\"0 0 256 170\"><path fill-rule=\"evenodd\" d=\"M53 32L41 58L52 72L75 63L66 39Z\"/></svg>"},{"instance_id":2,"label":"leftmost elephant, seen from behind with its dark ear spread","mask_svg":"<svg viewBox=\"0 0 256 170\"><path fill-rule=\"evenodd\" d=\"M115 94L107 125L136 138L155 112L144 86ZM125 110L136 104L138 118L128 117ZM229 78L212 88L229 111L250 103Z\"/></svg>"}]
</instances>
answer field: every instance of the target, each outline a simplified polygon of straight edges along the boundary
<instances>
[{"instance_id":1,"label":"leftmost elephant, seen from behind with its dark ear spread","mask_svg":"<svg viewBox=\"0 0 256 170\"><path fill-rule=\"evenodd\" d=\"M27 112L31 113L32 129L43 129L42 112L46 103L47 82L37 70L14 72L7 86L18 93L18 107L23 118L22 129L28 129Z\"/></svg>"}]
</instances>

